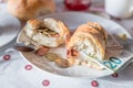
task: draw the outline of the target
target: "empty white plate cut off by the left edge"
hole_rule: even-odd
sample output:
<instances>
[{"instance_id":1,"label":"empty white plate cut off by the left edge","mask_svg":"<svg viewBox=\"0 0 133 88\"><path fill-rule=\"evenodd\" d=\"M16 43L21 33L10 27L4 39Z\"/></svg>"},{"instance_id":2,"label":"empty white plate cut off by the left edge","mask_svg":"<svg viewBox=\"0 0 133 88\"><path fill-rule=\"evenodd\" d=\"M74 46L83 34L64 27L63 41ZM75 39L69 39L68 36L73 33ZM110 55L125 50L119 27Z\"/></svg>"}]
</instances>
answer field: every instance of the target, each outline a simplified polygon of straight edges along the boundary
<instances>
[{"instance_id":1,"label":"empty white plate cut off by the left edge","mask_svg":"<svg viewBox=\"0 0 133 88\"><path fill-rule=\"evenodd\" d=\"M11 42L18 35L21 26L19 20L4 11L3 7L0 8L0 47Z\"/></svg>"}]
</instances>

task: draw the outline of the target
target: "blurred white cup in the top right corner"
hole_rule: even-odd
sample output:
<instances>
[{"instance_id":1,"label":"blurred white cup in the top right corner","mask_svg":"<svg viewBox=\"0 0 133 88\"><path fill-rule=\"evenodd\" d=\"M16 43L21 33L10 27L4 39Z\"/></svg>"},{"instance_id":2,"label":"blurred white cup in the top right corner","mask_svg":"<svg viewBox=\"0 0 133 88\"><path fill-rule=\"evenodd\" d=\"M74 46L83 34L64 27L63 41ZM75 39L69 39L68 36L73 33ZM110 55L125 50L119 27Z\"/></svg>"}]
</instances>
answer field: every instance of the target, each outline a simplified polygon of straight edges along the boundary
<instances>
[{"instance_id":1,"label":"blurred white cup in the top right corner","mask_svg":"<svg viewBox=\"0 0 133 88\"><path fill-rule=\"evenodd\" d=\"M105 11L115 18L130 18L133 15L133 0L105 0Z\"/></svg>"}]
</instances>

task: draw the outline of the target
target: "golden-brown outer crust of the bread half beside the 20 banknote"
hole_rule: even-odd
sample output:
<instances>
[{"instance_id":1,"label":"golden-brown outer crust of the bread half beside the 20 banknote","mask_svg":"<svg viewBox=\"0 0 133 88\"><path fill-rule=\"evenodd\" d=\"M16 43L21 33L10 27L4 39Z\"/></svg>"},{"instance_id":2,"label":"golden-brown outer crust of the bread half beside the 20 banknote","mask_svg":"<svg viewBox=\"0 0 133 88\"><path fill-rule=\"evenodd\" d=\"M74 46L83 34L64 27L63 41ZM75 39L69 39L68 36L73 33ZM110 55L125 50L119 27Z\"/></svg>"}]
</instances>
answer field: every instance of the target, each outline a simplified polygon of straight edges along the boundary
<instances>
[{"instance_id":1,"label":"golden-brown outer crust of the bread half beside the 20 banknote","mask_svg":"<svg viewBox=\"0 0 133 88\"><path fill-rule=\"evenodd\" d=\"M101 32L103 31L103 32ZM89 25L89 23L80 25L72 37L70 38L69 44L66 45L68 50L72 50L78 43L83 42L85 38L90 38L91 42L98 47L100 51L99 57L101 61L104 59L105 55L105 43L106 43L106 34L103 35L104 29L100 29L99 31Z\"/></svg>"}]
</instances>

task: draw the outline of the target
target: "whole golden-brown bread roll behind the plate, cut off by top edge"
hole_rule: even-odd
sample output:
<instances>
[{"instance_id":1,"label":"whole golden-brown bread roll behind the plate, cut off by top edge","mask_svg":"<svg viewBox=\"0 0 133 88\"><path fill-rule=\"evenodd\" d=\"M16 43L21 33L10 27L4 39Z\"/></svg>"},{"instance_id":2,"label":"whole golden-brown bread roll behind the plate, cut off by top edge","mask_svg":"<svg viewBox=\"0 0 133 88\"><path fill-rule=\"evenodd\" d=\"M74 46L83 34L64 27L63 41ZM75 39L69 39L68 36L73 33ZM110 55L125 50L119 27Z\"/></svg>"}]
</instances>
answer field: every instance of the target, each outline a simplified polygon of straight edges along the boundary
<instances>
[{"instance_id":1,"label":"whole golden-brown bread roll behind the plate, cut off by top edge","mask_svg":"<svg viewBox=\"0 0 133 88\"><path fill-rule=\"evenodd\" d=\"M23 21L54 12L54 10L55 7L53 0L8 1L8 12Z\"/></svg>"}]
</instances>

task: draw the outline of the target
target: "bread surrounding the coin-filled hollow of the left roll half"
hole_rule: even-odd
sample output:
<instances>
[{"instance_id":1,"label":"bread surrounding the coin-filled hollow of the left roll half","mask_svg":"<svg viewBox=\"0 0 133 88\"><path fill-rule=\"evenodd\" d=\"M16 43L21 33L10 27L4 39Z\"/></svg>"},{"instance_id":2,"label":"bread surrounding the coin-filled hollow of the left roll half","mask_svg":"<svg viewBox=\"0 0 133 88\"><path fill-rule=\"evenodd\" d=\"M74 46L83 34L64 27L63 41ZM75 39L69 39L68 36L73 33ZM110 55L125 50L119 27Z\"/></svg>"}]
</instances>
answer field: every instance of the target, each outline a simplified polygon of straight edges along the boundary
<instances>
[{"instance_id":1,"label":"bread surrounding the coin-filled hollow of the left roll half","mask_svg":"<svg viewBox=\"0 0 133 88\"><path fill-rule=\"evenodd\" d=\"M50 21L50 22L48 22ZM54 24L55 23L55 24ZM55 31L57 33L59 33L59 37L49 37L49 36L44 36L43 34L37 33L37 30L40 28L40 25L49 28L53 31ZM55 28L51 28L52 25L55 25ZM68 29L68 26L60 20L55 20L52 18L49 19L44 19L44 21L40 21L40 20L29 20L27 22L27 25L24 26L24 31L25 34L32 38L32 41L35 41L38 43L38 45L43 45L43 46L49 46L49 47L58 47L59 45L63 44L65 42L65 37L66 35L70 34L70 31ZM32 31L32 34L29 34L28 32ZM37 35L41 35L41 38L38 38ZM35 36L35 38L34 38ZM44 37L48 38L48 41L50 41L49 38L52 38L52 43L54 44L45 44L45 40ZM43 42L42 42L43 41Z\"/></svg>"}]
</instances>

